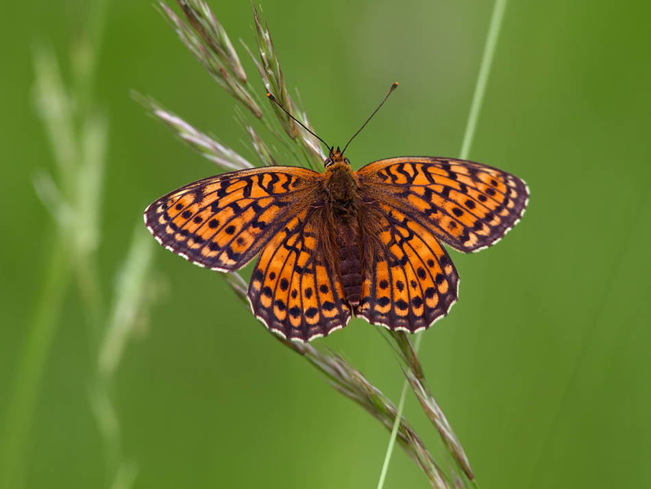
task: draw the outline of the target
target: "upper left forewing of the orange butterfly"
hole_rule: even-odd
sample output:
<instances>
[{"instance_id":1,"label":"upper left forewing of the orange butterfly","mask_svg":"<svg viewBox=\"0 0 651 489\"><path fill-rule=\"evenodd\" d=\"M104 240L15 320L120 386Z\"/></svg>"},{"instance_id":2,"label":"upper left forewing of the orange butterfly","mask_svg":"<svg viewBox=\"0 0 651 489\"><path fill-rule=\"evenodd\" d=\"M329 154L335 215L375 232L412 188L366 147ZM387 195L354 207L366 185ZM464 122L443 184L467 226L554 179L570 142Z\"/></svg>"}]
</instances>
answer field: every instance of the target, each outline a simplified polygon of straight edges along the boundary
<instances>
[{"instance_id":1,"label":"upper left forewing of the orange butterfly","mask_svg":"<svg viewBox=\"0 0 651 489\"><path fill-rule=\"evenodd\" d=\"M145 224L158 242L201 267L238 270L314 198L323 176L266 167L204 178L153 202Z\"/></svg>"}]
</instances>

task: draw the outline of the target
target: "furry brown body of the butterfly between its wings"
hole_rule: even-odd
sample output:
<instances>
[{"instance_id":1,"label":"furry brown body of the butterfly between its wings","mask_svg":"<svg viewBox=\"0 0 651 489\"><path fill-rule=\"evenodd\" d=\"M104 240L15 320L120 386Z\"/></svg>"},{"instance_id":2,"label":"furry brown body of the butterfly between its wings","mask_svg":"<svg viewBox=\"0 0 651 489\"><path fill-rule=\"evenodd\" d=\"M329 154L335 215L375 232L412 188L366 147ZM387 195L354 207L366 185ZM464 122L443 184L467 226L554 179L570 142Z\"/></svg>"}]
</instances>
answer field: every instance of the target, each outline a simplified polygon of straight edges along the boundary
<instances>
[{"instance_id":1,"label":"furry brown body of the butterfly between its wings","mask_svg":"<svg viewBox=\"0 0 651 489\"><path fill-rule=\"evenodd\" d=\"M326 191L326 213L330 223L332 244L339 260L336 260L349 304L359 305L362 290L362 265L360 254L360 226L358 222L360 202L359 181L343 158L339 148L330 152L323 175Z\"/></svg>"}]
</instances>

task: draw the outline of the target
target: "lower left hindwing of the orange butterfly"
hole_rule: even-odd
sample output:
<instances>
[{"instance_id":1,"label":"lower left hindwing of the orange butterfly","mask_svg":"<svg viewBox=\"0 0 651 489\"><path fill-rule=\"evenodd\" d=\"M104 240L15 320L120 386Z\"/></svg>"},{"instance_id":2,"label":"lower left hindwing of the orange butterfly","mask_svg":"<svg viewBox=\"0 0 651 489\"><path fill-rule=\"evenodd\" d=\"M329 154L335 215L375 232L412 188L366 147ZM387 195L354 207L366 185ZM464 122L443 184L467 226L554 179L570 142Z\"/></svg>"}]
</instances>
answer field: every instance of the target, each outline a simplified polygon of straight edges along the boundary
<instances>
[{"instance_id":1,"label":"lower left hindwing of the orange butterfly","mask_svg":"<svg viewBox=\"0 0 651 489\"><path fill-rule=\"evenodd\" d=\"M251 309L286 339L326 336L351 317L323 213L323 206L304 206L265 247L251 275Z\"/></svg>"}]
</instances>

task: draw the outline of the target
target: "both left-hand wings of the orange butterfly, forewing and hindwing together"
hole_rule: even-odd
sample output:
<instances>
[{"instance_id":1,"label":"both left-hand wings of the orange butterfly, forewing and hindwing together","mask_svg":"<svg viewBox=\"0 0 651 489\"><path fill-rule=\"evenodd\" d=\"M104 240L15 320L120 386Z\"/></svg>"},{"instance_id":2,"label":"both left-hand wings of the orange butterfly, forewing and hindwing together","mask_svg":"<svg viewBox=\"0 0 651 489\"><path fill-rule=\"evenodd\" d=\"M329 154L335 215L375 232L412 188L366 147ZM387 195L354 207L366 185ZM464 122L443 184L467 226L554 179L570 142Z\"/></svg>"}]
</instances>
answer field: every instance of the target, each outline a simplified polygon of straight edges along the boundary
<instances>
[{"instance_id":1,"label":"both left-hand wings of the orange butterfly, forewing and hindwing together","mask_svg":"<svg viewBox=\"0 0 651 489\"><path fill-rule=\"evenodd\" d=\"M324 256L322 192L323 175L309 169L234 171L164 195L145 210L145 224L162 246L211 270L239 270L260 254L248 292L254 315L307 341L351 315Z\"/></svg>"}]
</instances>

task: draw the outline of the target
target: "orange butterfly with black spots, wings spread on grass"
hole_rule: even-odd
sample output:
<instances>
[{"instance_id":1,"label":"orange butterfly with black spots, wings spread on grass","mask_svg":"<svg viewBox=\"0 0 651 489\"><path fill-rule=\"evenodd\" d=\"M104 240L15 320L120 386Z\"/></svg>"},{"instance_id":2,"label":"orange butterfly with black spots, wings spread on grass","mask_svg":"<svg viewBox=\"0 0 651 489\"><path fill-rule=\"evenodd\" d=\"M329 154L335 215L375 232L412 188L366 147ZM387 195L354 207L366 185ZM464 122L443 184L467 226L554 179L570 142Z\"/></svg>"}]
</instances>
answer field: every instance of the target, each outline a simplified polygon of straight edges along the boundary
<instances>
[{"instance_id":1,"label":"orange butterfly with black spots, wings spread on grass","mask_svg":"<svg viewBox=\"0 0 651 489\"><path fill-rule=\"evenodd\" d=\"M458 298L442 243L492 246L528 203L524 180L466 160L399 157L354 171L331 147L324 165L323 174L275 166L204 178L153 202L145 224L211 270L258 257L251 310L273 333L307 342L352 315L392 331L428 329Z\"/></svg>"}]
</instances>

